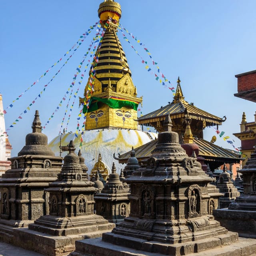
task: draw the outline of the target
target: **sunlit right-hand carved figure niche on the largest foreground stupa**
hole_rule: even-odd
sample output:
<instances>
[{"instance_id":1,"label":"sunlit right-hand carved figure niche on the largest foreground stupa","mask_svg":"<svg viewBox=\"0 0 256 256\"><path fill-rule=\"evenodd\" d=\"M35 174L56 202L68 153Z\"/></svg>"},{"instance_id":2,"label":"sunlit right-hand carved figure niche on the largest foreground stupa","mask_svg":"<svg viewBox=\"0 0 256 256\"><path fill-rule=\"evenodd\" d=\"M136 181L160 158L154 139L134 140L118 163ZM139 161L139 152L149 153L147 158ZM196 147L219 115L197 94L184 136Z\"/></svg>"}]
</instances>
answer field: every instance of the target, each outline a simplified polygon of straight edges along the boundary
<instances>
[{"instance_id":1,"label":"sunlit right-hand carved figure niche on the largest foreground stupa","mask_svg":"<svg viewBox=\"0 0 256 256\"><path fill-rule=\"evenodd\" d=\"M188 218L202 215L202 190L198 185L188 188Z\"/></svg>"}]
</instances>

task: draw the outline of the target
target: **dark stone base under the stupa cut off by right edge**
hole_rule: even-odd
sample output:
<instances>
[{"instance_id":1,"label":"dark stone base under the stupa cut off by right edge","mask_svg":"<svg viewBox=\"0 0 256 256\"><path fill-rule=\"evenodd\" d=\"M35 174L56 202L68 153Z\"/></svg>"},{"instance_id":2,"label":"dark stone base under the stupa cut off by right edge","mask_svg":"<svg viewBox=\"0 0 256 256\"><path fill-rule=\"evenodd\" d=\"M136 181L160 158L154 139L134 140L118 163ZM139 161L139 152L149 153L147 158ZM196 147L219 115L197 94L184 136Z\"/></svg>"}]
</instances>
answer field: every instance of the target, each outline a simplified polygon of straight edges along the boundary
<instances>
[{"instance_id":1,"label":"dark stone base under the stupa cut off by right edge","mask_svg":"<svg viewBox=\"0 0 256 256\"><path fill-rule=\"evenodd\" d=\"M228 210L228 208L213 210L214 218L221 226L238 232L240 237L256 238L256 211Z\"/></svg>"}]
</instances>

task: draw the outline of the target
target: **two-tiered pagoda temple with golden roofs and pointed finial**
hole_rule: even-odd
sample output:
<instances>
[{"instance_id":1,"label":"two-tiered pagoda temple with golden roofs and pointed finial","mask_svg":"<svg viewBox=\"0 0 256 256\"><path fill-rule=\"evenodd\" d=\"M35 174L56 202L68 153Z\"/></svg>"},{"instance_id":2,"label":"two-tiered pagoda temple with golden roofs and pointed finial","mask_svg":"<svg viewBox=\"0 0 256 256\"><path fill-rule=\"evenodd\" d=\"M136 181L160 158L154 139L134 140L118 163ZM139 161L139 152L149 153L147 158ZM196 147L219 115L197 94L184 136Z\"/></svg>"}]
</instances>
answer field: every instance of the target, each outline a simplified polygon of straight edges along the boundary
<instances>
[{"instance_id":1,"label":"two-tiered pagoda temple with golden roofs and pointed finial","mask_svg":"<svg viewBox=\"0 0 256 256\"><path fill-rule=\"evenodd\" d=\"M162 132L163 123L166 114L170 114L172 119L172 125L175 132L179 134L179 142L183 143L195 143L199 146L198 156L205 159L205 163L209 164L210 169L213 171L222 164L225 163L236 163L240 162L241 158L237 154L234 154L230 150L226 150L214 144L214 142L208 142L204 140L203 130L207 126L218 126L226 120L226 117L219 118L214 116L200 108L194 106L194 104L189 104L184 100L184 95L182 93L182 88L180 85L180 78L177 81L177 89L174 95L173 101L168 105L159 108L149 114L141 116L138 119L139 124L146 126L153 126L158 132ZM190 130L186 130L186 119L190 120ZM148 142L147 144L135 148L136 158L139 162L150 157L152 150L157 145L158 141L154 140ZM130 152L126 152L119 158L120 163L125 164L130 157Z\"/></svg>"}]
</instances>

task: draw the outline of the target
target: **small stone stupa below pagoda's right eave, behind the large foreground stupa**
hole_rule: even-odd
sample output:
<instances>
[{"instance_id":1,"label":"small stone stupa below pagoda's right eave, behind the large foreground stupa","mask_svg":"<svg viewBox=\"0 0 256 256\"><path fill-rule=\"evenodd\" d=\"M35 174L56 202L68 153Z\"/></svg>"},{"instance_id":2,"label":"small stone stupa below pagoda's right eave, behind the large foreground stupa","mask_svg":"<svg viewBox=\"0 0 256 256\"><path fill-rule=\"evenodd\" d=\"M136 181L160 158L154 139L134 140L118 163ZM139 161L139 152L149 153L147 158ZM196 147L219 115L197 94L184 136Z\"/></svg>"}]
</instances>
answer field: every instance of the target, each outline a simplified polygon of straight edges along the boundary
<instances>
[{"instance_id":1,"label":"small stone stupa below pagoda's right eave, behind the large foreground stupa","mask_svg":"<svg viewBox=\"0 0 256 256\"><path fill-rule=\"evenodd\" d=\"M224 164L223 172L220 174L217 182L217 188L220 190L220 193L223 193L223 196L220 197L220 208L227 208L230 203L234 202L237 196L240 196L227 170L226 164Z\"/></svg>"}]
</instances>

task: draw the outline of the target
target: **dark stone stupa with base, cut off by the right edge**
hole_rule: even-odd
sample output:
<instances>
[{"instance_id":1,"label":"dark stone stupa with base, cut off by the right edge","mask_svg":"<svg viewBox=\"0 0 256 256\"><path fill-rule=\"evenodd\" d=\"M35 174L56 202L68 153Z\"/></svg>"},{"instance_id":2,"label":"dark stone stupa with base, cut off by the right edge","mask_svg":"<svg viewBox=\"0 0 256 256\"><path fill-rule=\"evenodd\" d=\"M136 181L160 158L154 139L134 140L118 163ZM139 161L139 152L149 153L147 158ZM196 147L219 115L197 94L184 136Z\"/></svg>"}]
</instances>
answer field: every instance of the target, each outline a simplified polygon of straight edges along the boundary
<instances>
[{"instance_id":1,"label":"dark stone stupa with base, cut off by the right edge","mask_svg":"<svg viewBox=\"0 0 256 256\"><path fill-rule=\"evenodd\" d=\"M256 149L242 170L244 193L228 208L214 210L214 216L223 226L239 236L256 238Z\"/></svg>"}]
</instances>

